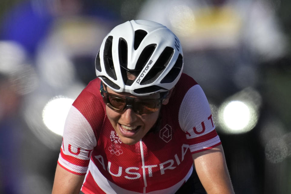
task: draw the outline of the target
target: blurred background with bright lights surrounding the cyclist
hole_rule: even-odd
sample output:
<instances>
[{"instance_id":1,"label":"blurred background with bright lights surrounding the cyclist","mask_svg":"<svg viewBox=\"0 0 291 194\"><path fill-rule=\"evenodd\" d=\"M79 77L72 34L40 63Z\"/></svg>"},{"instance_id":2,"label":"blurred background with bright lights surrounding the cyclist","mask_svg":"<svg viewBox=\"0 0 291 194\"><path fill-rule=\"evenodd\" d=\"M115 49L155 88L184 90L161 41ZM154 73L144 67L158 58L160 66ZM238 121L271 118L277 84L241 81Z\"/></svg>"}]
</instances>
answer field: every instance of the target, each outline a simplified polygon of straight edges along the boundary
<instances>
[{"instance_id":1,"label":"blurred background with bright lights surrounding the cyclist","mask_svg":"<svg viewBox=\"0 0 291 194\"><path fill-rule=\"evenodd\" d=\"M291 2L0 1L0 193L51 193L70 105L115 25L180 39L209 100L237 194L291 193Z\"/></svg>"}]
</instances>

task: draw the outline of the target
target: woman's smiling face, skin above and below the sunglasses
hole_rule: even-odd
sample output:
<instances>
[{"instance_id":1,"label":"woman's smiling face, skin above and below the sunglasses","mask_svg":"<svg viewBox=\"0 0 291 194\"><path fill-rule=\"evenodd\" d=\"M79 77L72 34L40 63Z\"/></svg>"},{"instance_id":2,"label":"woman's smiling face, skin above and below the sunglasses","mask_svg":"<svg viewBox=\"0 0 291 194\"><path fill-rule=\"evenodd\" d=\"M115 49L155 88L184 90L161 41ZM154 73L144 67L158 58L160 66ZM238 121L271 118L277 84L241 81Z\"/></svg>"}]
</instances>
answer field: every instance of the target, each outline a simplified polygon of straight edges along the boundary
<instances>
[{"instance_id":1,"label":"woman's smiling face, skin above and below the sunglasses","mask_svg":"<svg viewBox=\"0 0 291 194\"><path fill-rule=\"evenodd\" d=\"M126 92L116 93L110 88L107 88L107 92L127 97L137 97ZM138 98L158 99L159 94ZM128 145L135 144L140 139L142 139L147 132L149 132L152 126L156 123L159 117L159 112L160 108L156 112L138 115L131 108L128 108L125 109L122 113L119 113L106 106L107 117L115 129L115 132L121 141Z\"/></svg>"}]
</instances>

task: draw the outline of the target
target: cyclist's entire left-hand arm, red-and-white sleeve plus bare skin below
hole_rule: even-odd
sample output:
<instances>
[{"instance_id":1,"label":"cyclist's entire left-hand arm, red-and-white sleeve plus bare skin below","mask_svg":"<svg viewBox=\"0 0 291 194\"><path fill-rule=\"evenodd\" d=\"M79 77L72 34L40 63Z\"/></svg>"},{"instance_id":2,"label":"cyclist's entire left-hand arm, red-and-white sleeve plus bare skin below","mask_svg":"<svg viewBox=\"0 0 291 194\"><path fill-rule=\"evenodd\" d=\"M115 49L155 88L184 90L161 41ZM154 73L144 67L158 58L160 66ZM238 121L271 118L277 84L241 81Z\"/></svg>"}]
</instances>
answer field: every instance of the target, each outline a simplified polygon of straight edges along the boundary
<instances>
[{"instance_id":1,"label":"cyclist's entire left-hand arm, red-and-white sleeve plus bare skin below","mask_svg":"<svg viewBox=\"0 0 291 194\"><path fill-rule=\"evenodd\" d=\"M97 146L95 129L102 128L105 112L102 101L88 91L98 91L95 85L100 86L100 82L90 83L68 112L52 194L79 194L92 152Z\"/></svg>"}]
</instances>

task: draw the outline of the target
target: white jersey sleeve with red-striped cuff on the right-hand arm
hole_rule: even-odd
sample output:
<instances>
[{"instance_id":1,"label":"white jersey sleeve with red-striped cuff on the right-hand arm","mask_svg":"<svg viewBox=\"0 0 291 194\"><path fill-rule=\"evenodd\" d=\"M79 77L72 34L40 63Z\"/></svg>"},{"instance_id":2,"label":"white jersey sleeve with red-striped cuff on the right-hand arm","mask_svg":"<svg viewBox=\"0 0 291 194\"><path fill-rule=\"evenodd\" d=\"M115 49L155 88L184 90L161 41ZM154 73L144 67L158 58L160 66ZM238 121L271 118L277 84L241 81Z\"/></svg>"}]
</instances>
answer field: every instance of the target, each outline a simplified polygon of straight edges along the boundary
<instances>
[{"instance_id":1,"label":"white jersey sleeve with red-striped cuff on the right-hand arm","mask_svg":"<svg viewBox=\"0 0 291 194\"><path fill-rule=\"evenodd\" d=\"M191 153L202 152L221 144L215 131L209 103L196 84L185 94L179 108L179 125L186 133Z\"/></svg>"}]
</instances>

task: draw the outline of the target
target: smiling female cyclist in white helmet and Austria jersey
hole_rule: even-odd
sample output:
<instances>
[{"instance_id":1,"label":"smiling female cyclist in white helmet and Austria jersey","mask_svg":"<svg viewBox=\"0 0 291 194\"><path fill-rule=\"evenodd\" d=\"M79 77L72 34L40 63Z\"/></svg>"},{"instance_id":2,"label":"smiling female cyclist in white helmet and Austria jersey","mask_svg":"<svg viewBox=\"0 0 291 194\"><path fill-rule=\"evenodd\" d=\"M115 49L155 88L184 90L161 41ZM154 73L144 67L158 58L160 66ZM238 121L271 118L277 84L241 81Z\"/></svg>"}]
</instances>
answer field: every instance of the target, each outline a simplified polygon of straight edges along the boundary
<instances>
[{"instance_id":1,"label":"smiling female cyclist in white helmet and Austria jersey","mask_svg":"<svg viewBox=\"0 0 291 194\"><path fill-rule=\"evenodd\" d=\"M182 69L165 26L113 28L69 111L52 193L234 193L206 96Z\"/></svg>"}]
</instances>

